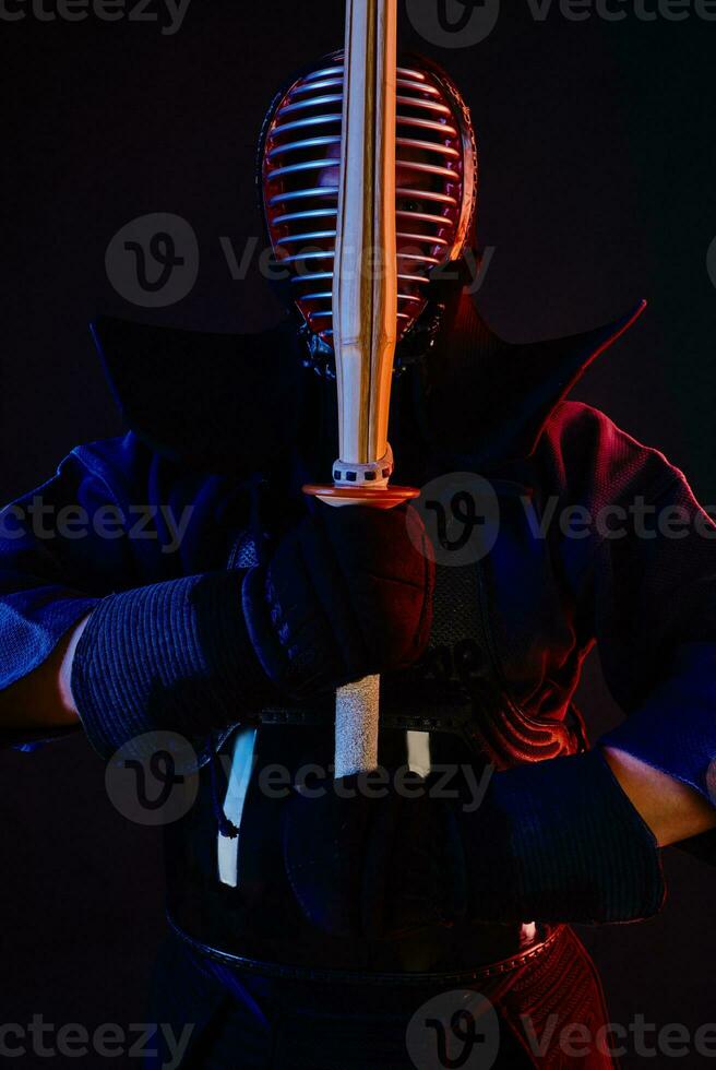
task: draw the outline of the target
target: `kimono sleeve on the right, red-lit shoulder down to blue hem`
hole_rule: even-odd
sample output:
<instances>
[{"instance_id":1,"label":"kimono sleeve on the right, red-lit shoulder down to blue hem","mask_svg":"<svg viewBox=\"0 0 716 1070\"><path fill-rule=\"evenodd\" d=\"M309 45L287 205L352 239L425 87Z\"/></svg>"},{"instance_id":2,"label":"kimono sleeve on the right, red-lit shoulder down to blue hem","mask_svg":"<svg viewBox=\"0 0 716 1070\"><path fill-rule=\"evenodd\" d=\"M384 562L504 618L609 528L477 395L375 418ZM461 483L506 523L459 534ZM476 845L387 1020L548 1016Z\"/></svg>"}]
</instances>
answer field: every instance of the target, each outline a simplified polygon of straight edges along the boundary
<instances>
[{"instance_id":1,"label":"kimono sleeve on the right, red-lit shoulder down to blue hem","mask_svg":"<svg viewBox=\"0 0 716 1070\"><path fill-rule=\"evenodd\" d=\"M551 442L564 503L597 528L561 558L626 715L599 741L716 804L716 524L678 468L601 413L562 406Z\"/></svg>"}]
</instances>

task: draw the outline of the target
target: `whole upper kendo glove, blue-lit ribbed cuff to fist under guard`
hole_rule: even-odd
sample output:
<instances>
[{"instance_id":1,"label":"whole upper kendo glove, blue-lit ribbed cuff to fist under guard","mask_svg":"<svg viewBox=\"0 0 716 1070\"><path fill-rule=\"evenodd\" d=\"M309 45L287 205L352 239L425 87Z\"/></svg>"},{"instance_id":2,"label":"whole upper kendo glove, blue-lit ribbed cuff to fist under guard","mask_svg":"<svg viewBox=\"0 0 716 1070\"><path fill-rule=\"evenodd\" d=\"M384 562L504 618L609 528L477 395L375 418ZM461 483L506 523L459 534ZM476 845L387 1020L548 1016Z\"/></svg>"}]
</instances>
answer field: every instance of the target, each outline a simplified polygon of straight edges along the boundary
<instances>
[{"instance_id":1,"label":"whole upper kendo glove, blue-lit ribbed cuff to fist under guard","mask_svg":"<svg viewBox=\"0 0 716 1070\"><path fill-rule=\"evenodd\" d=\"M80 720L109 757L148 732L203 737L284 692L407 664L427 642L432 578L414 510L320 506L266 567L103 599L74 655Z\"/></svg>"}]
</instances>

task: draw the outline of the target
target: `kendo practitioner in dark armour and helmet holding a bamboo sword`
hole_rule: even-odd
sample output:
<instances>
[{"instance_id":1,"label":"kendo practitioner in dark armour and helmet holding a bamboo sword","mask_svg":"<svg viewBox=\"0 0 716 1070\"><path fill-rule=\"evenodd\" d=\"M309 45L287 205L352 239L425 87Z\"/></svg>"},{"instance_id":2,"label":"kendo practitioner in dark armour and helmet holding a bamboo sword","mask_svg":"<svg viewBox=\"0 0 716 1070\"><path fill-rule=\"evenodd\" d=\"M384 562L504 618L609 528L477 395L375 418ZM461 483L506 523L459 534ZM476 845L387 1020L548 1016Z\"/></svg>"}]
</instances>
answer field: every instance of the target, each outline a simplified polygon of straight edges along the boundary
<instances>
[{"instance_id":1,"label":"kendo practitioner in dark armour and helmet holding a bamboo sword","mask_svg":"<svg viewBox=\"0 0 716 1070\"><path fill-rule=\"evenodd\" d=\"M108 761L147 734L190 741L199 792L166 827L172 936L151 1019L193 1025L183 1066L487 1065L455 1038L452 1062L420 1063L406 1041L421 1006L474 992L497 1010L497 1066L611 1067L599 979L570 923L649 918L660 848L708 853L716 527L657 450L566 400L642 306L524 345L478 316L465 285L475 134L448 74L415 57L397 70L393 475L488 482L494 542L453 564L419 503L334 509L303 494L338 456L342 74L337 52L294 78L261 136L279 325L94 324L128 430L77 447L2 514L4 738L31 750L83 729ZM38 497L47 516L73 506L127 523L111 538L95 523L41 537ZM132 536L136 503L190 508L178 547L166 513ZM623 537L549 523L575 510L625 516ZM625 720L590 746L573 694L595 643ZM336 688L370 674L381 792L331 775ZM268 790L277 769L285 789ZM452 795L431 790L445 769ZM576 1060L559 1041L574 1023L593 1038Z\"/></svg>"}]
</instances>

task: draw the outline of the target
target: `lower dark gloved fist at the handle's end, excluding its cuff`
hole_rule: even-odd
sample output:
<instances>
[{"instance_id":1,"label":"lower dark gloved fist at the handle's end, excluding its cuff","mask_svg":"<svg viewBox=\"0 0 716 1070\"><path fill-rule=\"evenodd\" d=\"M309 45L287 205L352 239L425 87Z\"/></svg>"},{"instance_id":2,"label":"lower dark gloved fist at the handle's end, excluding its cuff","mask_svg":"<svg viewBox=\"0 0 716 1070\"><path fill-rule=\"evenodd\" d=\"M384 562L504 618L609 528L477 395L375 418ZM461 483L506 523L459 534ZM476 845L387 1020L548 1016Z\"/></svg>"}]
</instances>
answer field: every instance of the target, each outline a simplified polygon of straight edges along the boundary
<instances>
[{"instance_id":1,"label":"lower dark gloved fist at the handle's end, excluding its cuff","mask_svg":"<svg viewBox=\"0 0 716 1070\"><path fill-rule=\"evenodd\" d=\"M303 914L325 932L397 936L464 916L465 859L452 807L430 797L431 778L407 774L402 784L380 789L358 774L326 785L321 797L297 792L288 800L286 872Z\"/></svg>"}]
</instances>

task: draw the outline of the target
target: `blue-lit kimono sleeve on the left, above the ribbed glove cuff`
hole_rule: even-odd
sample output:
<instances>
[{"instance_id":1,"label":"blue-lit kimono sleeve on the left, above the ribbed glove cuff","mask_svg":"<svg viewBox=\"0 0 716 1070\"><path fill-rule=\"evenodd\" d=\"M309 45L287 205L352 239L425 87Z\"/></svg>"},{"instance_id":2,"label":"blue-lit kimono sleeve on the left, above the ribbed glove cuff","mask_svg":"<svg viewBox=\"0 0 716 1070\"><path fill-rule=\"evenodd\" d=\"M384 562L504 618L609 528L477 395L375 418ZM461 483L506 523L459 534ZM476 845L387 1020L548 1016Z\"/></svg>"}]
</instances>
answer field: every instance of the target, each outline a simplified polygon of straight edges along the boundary
<instances>
[{"instance_id":1,"label":"blue-lit kimono sleeve on the left, above the ribbed glove cuff","mask_svg":"<svg viewBox=\"0 0 716 1070\"><path fill-rule=\"evenodd\" d=\"M216 563L206 531L220 526L212 524L219 483L178 471L130 433L79 447L53 478L5 507L0 690L41 665L106 595ZM31 749L62 735L5 730L0 744Z\"/></svg>"}]
</instances>

